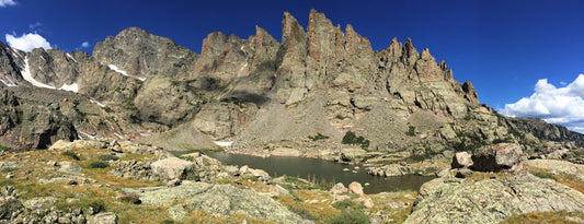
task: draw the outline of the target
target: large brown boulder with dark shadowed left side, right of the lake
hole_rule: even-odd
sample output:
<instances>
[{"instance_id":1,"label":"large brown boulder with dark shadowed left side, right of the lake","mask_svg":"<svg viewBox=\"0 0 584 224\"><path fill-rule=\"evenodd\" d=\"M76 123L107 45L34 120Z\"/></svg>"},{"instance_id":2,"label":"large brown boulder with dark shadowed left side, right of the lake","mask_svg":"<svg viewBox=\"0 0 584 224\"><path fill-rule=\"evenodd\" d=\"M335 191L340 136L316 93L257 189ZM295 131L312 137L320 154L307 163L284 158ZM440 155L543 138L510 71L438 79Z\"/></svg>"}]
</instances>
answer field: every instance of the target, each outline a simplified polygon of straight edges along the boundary
<instances>
[{"instance_id":1,"label":"large brown boulder with dark shadowed left side, right of the lake","mask_svg":"<svg viewBox=\"0 0 584 224\"><path fill-rule=\"evenodd\" d=\"M472 155L472 169L499 172L509 169L519 163L522 146L515 143L500 143L477 149Z\"/></svg>"}]
</instances>

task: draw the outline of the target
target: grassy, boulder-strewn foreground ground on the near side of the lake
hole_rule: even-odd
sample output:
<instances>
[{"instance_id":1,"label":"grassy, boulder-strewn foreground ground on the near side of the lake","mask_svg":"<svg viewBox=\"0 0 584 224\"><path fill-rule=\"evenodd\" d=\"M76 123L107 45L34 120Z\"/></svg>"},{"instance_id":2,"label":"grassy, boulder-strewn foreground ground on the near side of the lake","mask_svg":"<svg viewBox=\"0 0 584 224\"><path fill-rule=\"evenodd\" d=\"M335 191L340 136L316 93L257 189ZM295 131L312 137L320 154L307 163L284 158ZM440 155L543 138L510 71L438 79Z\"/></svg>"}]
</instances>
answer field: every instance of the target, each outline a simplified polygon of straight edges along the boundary
<instances>
[{"instance_id":1,"label":"grassy, boulder-strewn foreground ground on the near side of the lake","mask_svg":"<svg viewBox=\"0 0 584 224\"><path fill-rule=\"evenodd\" d=\"M0 223L584 222L584 165L502 143L458 153L417 191L272 177L115 140L2 152Z\"/></svg>"}]
</instances>

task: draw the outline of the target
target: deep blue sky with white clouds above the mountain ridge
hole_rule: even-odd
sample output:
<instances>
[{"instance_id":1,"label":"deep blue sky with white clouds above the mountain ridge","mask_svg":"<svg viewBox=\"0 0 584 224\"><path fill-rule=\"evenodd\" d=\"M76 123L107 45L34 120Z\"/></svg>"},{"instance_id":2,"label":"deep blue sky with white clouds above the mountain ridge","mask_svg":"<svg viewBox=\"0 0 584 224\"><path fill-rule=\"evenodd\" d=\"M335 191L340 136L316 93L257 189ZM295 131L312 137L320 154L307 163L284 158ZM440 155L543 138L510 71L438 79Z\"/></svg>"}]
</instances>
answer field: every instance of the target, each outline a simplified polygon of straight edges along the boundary
<instances>
[{"instance_id":1,"label":"deep blue sky with white clouds above the mountain ridge","mask_svg":"<svg viewBox=\"0 0 584 224\"><path fill-rule=\"evenodd\" d=\"M445 60L455 79L470 80L481 103L500 111L584 131L584 78L582 86L575 82L584 73L584 1L579 0L0 0L0 37L36 34L27 39L91 52L96 42L138 26L199 52L203 38L217 31L247 38L260 25L280 39L283 12L306 27L310 9L342 27L352 24L375 50L392 37L411 37L419 50L430 48L437 61Z\"/></svg>"}]
</instances>

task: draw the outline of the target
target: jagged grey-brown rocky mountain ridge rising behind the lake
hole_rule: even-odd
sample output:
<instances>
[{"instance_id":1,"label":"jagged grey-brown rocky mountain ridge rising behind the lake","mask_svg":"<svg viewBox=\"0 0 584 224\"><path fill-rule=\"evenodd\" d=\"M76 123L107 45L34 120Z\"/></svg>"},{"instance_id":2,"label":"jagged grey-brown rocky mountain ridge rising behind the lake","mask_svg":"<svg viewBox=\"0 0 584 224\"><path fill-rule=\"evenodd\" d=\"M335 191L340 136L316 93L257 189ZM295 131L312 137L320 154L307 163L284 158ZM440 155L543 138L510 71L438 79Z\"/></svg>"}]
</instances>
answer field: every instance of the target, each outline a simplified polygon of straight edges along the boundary
<instances>
[{"instance_id":1,"label":"jagged grey-brown rocky mountain ridge rising behind the lake","mask_svg":"<svg viewBox=\"0 0 584 224\"><path fill-rule=\"evenodd\" d=\"M525 133L582 144L581 134L559 127L499 116L479 103L472 83L456 81L444 61L436 62L428 49L419 51L409 38L374 51L353 26L333 25L316 10L306 30L284 13L282 42L255 30L248 39L211 33L201 55L137 27L98 43L93 55L23 52L0 43L0 86L18 97L26 95L18 91L23 87L55 89L46 90L51 97L69 91L67 97L78 103L59 103L67 113L53 120L70 122L56 122L68 128L49 131L51 141L87 138L78 130L163 142L157 133L191 130L184 138L234 141L233 149L336 149L347 131L368 140L367 150L430 154L522 142ZM4 102L0 144L22 146L5 140L12 138L7 130L23 123L22 106ZM98 113L80 110L85 103ZM319 133L330 139L309 140Z\"/></svg>"}]
</instances>

